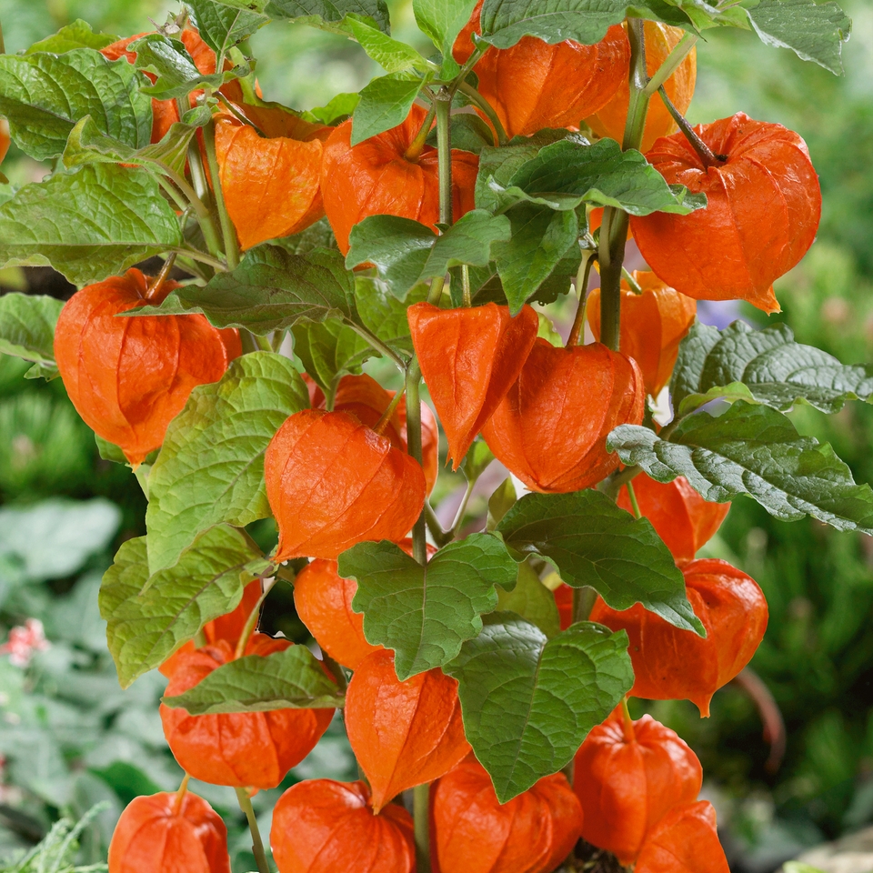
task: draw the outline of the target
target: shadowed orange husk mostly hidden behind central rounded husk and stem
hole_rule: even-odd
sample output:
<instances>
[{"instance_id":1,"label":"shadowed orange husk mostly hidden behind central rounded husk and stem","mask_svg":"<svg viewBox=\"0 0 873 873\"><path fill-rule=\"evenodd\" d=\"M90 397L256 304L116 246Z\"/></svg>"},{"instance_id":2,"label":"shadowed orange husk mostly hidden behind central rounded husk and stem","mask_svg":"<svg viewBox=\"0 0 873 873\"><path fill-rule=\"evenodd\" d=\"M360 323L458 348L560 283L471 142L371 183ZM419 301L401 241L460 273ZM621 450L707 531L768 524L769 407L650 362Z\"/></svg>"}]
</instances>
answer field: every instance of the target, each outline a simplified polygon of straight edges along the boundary
<instances>
[{"instance_id":1,"label":"shadowed orange husk mostly hidden behind central rounded husk and stem","mask_svg":"<svg viewBox=\"0 0 873 873\"><path fill-rule=\"evenodd\" d=\"M366 373L361 376L343 376L334 395L334 412L347 412L367 427L375 427L386 409L394 399L394 391L386 391L373 376ZM310 404L313 409L324 409L326 397L324 392L312 383L310 388ZM382 436L391 440L391 445L401 452L406 452L406 397L386 422ZM430 494L437 483L439 467L439 429L437 419L430 411L430 406L421 404L421 455L422 469L425 473L427 494Z\"/></svg>"}]
</instances>

